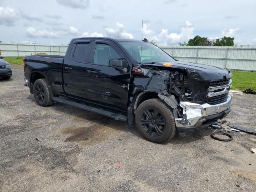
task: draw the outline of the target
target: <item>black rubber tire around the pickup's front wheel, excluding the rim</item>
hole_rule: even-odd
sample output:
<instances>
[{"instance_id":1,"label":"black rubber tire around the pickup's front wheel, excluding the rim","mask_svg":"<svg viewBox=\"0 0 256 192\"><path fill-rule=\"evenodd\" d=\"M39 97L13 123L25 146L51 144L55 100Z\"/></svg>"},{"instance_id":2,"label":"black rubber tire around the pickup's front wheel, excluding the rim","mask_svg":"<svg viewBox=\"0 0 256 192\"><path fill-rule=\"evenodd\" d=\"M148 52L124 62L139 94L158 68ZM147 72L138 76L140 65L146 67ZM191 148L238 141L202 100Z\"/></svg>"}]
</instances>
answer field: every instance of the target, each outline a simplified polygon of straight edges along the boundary
<instances>
[{"instance_id":1,"label":"black rubber tire around the pickup's front wheel, excluding the rim","mask_svg":"<svg viewBox=\"0 0 256 192\"><path fill-rule=\"evenodd\" d=\"M136 110L136 114L135 114L136 126L137 126L139 132L142 134L142 136L144 138L146 138L147 140L149 140L151 142L155 142L155 143L166 142L170 139L170 135L172 135L172 133L176 131L176 127L174 124L174 117L172 115L172 110L170 110L169 108L166 108L166 107L162 106L159 103L159 101L157 102L156 100L146 100L146 101L142 102L142 104L140 104L140 106ZM146 131L144 130L140 119L146 109L156 109L163 116L163 118L165 120L165 127L164 127L163 133L160 136L151 136L151 135L147 134ZM169 109L169 111L166 109ZM171 136L171 138L172 137L173 136Z\"/></svg>"}]
</instances>

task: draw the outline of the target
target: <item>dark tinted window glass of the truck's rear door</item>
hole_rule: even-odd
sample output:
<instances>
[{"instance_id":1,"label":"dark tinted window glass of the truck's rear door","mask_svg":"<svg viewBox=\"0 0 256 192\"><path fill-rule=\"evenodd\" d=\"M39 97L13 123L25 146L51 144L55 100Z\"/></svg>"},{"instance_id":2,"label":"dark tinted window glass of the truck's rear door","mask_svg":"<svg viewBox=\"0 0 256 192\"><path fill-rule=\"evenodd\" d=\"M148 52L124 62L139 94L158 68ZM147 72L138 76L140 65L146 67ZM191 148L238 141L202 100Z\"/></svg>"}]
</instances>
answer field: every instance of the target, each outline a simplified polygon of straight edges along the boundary
<instances>
[{"instance_id":1,"label":"dark tinted window glass of the truck's rear door","mask_svg":"<svg viewBox=\"0 0 256 192\"><path fill-rule=\"evenodd\" d=\"M89 62L91 52L90 43L76 44L73 59L77 62Z\"/></svg>"}]
</instances>

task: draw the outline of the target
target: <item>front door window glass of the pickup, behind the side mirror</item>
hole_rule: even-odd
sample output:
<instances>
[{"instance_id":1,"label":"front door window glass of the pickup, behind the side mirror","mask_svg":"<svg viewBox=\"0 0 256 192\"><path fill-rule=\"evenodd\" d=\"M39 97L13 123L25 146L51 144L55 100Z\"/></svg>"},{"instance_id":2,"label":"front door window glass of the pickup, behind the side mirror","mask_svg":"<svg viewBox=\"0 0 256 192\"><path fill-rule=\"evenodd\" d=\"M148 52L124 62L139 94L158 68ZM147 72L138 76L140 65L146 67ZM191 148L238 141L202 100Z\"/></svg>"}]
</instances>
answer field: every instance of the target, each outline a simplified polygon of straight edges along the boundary
<instances>
[{"instance_id":1,"label":"front door window glass of the pickup, behind the side mirror","mask_svg":"<svg viewBox=\"0 0 256 192\"><path fill-rule=\"evenodd\" d=\"M121 56L109 45L96 44L93 63L108 66L110 58L121 58Z\"/></svg>"}]
</instances>

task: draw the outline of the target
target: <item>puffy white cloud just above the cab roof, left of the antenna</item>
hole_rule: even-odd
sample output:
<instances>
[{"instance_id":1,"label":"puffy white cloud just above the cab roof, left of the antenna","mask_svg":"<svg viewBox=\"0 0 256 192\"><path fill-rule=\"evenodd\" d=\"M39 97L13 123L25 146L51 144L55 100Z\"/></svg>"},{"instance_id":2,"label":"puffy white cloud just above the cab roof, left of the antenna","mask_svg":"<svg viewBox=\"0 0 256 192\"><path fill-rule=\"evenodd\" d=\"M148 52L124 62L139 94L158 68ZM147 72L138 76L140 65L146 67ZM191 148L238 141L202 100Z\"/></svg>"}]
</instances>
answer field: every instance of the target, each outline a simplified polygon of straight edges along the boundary
<instances>
[{"instance_id":1,"label":"puffy white cloud just above the cab roof, left of the antenna","mask_svg":"<svg viewBox=\"0 0 256 192\"><path fill-rule=\"evenodd\" d=\"M124 25L122 23L116 23L117 29L112 29L112 28L105 28L105 32L107 36L109 37L122 37L122 38L133 38L133 35L126 32L124 30Z\"/></svg>"}]
</instances>

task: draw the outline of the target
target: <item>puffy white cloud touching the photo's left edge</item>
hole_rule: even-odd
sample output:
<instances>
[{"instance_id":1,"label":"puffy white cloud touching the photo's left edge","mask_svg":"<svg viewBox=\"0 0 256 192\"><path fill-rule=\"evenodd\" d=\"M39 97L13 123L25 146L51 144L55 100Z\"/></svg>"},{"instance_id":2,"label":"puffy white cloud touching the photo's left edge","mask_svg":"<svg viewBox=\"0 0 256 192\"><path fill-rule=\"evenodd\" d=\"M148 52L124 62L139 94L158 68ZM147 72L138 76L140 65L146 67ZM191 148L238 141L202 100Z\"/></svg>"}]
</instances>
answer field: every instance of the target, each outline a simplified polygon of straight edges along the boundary
<instances>
[{"instance_id":1,"label":"puffy white cloud touching the photo's left edge","mask_svg":"<svg viewBox=\"0 0 256 192\"><path fill-rule=\"evenodd\" d=\"M17 20L17 14L13 8L0 7L0 25L13 26Z\"/></svg>"}]
</instances>

